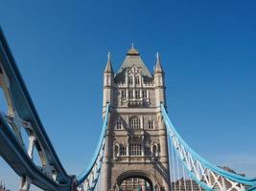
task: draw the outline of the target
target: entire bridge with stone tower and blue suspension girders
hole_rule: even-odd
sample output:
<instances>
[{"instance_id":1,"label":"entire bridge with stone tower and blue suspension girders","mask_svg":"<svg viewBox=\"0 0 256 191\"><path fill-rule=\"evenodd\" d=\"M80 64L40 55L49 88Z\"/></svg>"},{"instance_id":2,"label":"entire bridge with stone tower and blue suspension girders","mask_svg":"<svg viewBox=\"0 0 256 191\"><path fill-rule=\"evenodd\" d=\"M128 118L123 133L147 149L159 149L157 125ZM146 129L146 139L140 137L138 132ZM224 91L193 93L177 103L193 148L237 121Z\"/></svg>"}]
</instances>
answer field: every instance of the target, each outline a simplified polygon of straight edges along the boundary
<instances>
[{"instance_id":1,"label":"entire bridge with stone tower and blue suspension girders","mask_svg":"<svg viewBox=\"0 0 256 191\"><path fill-rule=\"evenodd\" d=\"M102 133L91 162L77 176L58 159L2 30L0 88L8 107L0 113L0 155L20 177L20 191L29 191L31 184L47 191L256 190L256 179L203 159L178 134L167 114L158 53L153 74L133 46L116 73L108 53Z\"/></svg>"}]
</instances>

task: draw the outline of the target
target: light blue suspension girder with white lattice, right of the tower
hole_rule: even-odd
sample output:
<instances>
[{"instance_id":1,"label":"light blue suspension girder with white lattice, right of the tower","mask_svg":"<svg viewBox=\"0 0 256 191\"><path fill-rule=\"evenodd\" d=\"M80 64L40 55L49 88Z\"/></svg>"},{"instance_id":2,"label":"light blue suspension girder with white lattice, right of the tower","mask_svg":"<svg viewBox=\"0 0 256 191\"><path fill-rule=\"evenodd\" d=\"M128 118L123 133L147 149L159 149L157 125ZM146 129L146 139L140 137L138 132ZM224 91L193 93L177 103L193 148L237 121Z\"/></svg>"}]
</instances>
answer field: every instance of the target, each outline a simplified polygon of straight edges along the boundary
<instances>
[{"instance_id":1,"label":"light blue suspension girder with white lattice, right of the tower","mask_svg":"<svg viewBox=\"0 0 256 191\"><path fill-rule=\"evenodd\" d=\"M200 157L177 133L175 126L167 115L165 106L161 104L160 107L175 153L187 170L189 176L195 180L200 187L207 191L255 190L256 179L248 179L244 176L225 171L221 167Z\"/></svg>"}]
</instances>

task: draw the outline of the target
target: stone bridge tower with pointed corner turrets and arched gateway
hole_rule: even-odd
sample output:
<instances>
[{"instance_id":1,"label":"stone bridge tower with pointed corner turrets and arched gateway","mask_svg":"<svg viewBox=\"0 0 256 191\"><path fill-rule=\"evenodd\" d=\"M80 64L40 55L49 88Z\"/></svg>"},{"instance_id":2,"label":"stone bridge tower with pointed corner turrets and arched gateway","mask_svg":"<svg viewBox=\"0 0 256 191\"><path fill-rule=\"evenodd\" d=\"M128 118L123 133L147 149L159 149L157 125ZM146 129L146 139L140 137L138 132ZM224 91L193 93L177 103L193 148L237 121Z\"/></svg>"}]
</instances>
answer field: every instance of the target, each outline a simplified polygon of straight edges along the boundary
<instances>
[{"instance_id":1,"label":"stone bridge tower with pointed corner turrets and arched gateway","mask_svg":"<svg viewBox=\"0 0 256 191\"><path fill-rule=\"evenodd\" d=\"M170 190L168 142L160 103L165 80L159 54L153 74L132 46L115 74L110 53L104 73L104 101L111 105L101 190Z\"/></svg>"}]
</instances>

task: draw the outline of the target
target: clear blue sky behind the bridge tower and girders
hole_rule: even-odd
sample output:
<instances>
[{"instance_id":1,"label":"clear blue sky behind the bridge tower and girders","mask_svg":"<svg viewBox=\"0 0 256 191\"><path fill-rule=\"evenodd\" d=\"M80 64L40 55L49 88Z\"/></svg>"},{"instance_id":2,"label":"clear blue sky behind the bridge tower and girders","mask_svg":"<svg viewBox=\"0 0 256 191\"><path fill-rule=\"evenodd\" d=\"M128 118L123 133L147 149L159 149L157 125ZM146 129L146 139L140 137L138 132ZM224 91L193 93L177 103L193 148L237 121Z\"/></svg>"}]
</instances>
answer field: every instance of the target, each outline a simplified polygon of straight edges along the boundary
<instances>
[{"instance_id":1,"label":"clear blue sky behind the bridge tower and girders","mask_svg":"<svg viewBox=\"0 0 256 191\"><path fill-rule=\"evenodd\" d=\"M0 23L64 167L79 174L102 124L106 53L161 53L169 115L218 165L256 177L256 1L1 0ZM12 170L0 179L12 190Z\"/></svg>"}]
</instances>

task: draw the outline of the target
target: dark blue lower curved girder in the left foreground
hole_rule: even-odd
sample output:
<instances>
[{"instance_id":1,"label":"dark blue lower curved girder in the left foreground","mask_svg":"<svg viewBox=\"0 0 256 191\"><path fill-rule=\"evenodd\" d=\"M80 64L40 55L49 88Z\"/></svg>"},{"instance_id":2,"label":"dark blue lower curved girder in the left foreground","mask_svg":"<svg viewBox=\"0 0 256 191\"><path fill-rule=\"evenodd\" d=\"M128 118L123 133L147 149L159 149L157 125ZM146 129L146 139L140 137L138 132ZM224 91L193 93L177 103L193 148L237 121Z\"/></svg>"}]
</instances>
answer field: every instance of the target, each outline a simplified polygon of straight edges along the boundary
<instances>
[{"instance_id":1,"label":"dark blue lower curved girder in the left foreground","mask_svg":"<svg viewBox=\"0 0 256 191\"><path fill-rule=\"evenodd\" d=\"M59 184L49 179L35 165L17 138L13 135L10 126L2 115L0 115L0 155L20 177L31 178L35 185L44 190L71 190L71 180L66 184Z\"/></svg>"}]
</instances>

